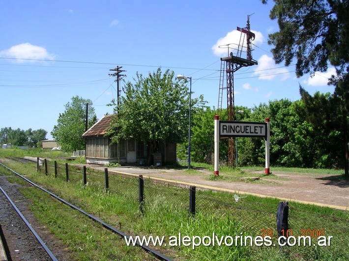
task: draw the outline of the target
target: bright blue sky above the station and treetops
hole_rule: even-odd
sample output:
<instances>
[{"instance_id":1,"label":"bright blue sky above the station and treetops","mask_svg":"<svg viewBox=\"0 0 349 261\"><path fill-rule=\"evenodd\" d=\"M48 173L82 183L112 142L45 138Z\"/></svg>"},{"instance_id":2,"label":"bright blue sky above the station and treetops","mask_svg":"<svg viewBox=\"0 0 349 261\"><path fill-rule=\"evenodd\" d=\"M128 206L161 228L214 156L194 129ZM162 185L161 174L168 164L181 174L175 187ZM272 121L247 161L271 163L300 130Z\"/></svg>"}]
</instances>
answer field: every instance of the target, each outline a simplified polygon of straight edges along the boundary
<instances>
[{"instance_id":1,"label":"bright blue sky above the station and treetops","mask_svg":"<svg viewBox=\"0 0 349 261\"><path fill-rule=\"evenodd\" d=\"M311 94L333 92L327 80L334 68L296 78L295 62L275 64L267 44L278 31L272 6L272 0L0 0L0 129L44 129L51 139L74 96L90 99L98 119L113 113L107 104L116 98L116 78L109 76L116 66L133 83L137 72L146 77L159 67L191 77L192 97L204 95L217 108L220 58L235 52L236 27L246 27L249 15L258 65L234 73L235 106L299 100L299 84Z\"/></svg>"}]
</instances>

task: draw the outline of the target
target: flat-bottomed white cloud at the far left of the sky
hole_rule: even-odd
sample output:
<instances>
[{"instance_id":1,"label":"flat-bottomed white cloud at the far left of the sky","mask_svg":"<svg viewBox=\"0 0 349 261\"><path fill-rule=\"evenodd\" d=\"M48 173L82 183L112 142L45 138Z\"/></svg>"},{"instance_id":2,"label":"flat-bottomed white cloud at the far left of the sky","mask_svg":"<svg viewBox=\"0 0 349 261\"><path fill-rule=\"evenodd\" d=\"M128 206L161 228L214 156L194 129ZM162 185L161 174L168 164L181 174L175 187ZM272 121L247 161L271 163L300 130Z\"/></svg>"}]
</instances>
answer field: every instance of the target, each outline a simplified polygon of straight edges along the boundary
<instances>
[{"instance_id":1,"label":"flat-bottomed white cloud at the far left of the sky","mask_svg":"<svg viewBox=\"0 0 349 261\"><path fill-rule=\"evenodd\" d=\"M10 49L0 51L1 57L15 58L17 62L24 62L21 59L53 60L56 55L47 52L44 47L31 45L29 43L12 46Z\"/></svg>"}]
</instances>

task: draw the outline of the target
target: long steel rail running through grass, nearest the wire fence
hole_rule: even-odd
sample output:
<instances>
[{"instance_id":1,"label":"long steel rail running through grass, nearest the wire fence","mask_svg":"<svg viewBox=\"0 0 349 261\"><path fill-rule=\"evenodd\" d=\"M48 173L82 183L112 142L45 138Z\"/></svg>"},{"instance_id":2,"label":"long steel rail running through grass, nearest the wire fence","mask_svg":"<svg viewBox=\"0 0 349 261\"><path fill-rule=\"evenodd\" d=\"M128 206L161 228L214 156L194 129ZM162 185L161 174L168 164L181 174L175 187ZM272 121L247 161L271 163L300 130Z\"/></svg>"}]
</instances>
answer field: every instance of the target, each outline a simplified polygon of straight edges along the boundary
<instances>
[{"instance_id":1,"label":"long steel rail running through grass, nearest the wire fence","mask_svg":"<svg viewBox=\"0 0 349 261\"><path fill-rule=\"evenodd\" d=\"M12 170L12 169L6 167L6 166L3 165L2 163L0 163L0 165L3 166L4 168L8 169L9 171L13 172L14 174L16 174L18 177L24 179L25 181L27 181L27 182L30 183L31 185L33 185L33 186L35 186L35 187L37 187L37 188L40 188L41 190L43 190L43 191L45 191L46 193L50 194L52 197L54 197L55 199L57 199L57 200L59 200L60 202L64 203L65 205L69 206L70 208L75 209L75 210L78 210L78 211L80 211L81 213L87 215L87 216L88 216L90 219L92 219L93 221L96 221L96 222L102 224L104 228L106 228L106 229L108 229L108 230L110 230L110 231L112 231L112 232L114 232L114 233L120 235L120 236L123 237L123 238L127 238L127 239L130 238L129 235L124 234L123 232L117 230L116 228L114 228L114 227L108 225L108 224L105 223L103 220L101 220L101 219L99 219L99 218L97 218L97 217L91 215L90 213L87 213L87 212L84 211L83 209L80 209L80 208L78 208L78 207L76 207L76 206L70 204L69 202L67 202L67 201L65 201L64 199L58 197L57 195L53 194L52 192L46 190L45 188L40 187L39 185L37 185L37 184L31 182L31 181L28 180L27 178L23 177L21 174L18 174L17 172L15 172L14 170ZM151 248L148 247L148 246L145 246L145 245L143 245L143 244L140 244L140 242L138 242L138 241L136 241L136 244L137 244L138 246L142 247L145 251L150 252L154 257L156 257L156 258L159 259L159 260L166 260L166 261L170 261L170 260L171 260L171 258L169 258L169 257L167 257L167 256L165 256L165 255L163 255L163 254L161 254L160 252L158 252L158 251L156 251L156 250L154 250L154 249L151 249Z\"/></svg>"}]
</instances>

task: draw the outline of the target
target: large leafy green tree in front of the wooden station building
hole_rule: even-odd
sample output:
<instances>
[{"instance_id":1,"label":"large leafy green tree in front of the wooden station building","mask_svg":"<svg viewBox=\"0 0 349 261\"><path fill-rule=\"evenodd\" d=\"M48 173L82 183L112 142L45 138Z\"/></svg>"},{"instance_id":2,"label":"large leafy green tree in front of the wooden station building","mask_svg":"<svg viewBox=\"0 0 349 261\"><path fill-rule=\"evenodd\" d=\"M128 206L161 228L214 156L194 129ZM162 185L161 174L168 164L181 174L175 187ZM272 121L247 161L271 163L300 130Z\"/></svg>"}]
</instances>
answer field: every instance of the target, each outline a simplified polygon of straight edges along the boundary
<instances>
[{"instance_id":1,"label":"large leafy green tree in front of the wooden station building","mask_svg":"<svg viewBox=\"0 0 349 261\"><path fill-rule=\"evenodd\" d=\"M184 81L174 81L174 72L161 68L145 78L137 73L135 83L123 87L119 108L107 134L112 142L131 137L147 143L149 160L158 152L159 141L178 143L188 134L189 91ZM192 99L192 112L203 104L202 98Z\"/></svg>"}]
</instances>

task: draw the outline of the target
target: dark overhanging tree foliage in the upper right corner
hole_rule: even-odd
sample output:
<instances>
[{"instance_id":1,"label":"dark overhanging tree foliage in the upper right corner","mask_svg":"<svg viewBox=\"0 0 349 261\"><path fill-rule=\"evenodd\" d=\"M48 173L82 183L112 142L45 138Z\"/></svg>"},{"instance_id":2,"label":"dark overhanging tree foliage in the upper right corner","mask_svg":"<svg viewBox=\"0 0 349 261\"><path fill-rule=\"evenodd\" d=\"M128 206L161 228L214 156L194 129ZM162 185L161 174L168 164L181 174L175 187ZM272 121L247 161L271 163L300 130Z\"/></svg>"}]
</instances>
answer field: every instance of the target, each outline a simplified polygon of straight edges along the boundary
<instances>
[{"instance_id":1,"label":"dark overhanging tree foliage in the upper right corner","mask_svg":"<svg viewBox=\"0 0 349 261\"><path fill-rule=\"evenodd\" d=\"M262 0L266 3L266 0ZM348 0L275 0L270 12L277 19L279 31L269 35L268 43L276 63L289 66L296 59L296 75L324 72L336 67L334 95L341 98L345 175L348 169L348 104L349 104L349 1Z\"/></svg>"}]
</instances>

